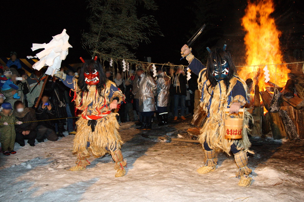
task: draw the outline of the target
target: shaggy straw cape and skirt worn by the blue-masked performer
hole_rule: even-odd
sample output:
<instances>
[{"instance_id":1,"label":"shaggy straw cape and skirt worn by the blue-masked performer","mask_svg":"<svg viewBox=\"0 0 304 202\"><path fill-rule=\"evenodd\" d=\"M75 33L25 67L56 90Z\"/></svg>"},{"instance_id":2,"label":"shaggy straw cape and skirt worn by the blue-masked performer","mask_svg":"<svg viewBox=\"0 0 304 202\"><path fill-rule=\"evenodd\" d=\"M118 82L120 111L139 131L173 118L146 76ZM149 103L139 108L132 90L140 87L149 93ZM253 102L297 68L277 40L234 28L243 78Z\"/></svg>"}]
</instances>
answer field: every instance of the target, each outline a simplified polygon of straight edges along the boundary
<instances>
[{"instance_id":1,"label":"shaggy straw cape and skirt worn by the blue-masked performer","mask_svg":"<svg viewBox=\"0 0 304 202\"><path fill-rule=\"evenodd\" d=\"M206 69L202 69L198 76L198 87L199 90L202 91L202 99L200 102L200 106L206 111L207 119L200 131L199 141L203 144L205 141L208 146L215 151L223 150L228 155L230 155L230 146L235 143L237 145L238 150L244 150L244 152L253 153L249 150L251 143L248 138L248 121L252 116L245 109L245 117L244 117L244 127L242 131L243 138L241 140L228 140L225 139L225 128L224 128L224 119L225 113L224 109L227 108L233 102L240 102L242 106L246 104L246 98L238 95L232 97L232 89L240 82L246 91L247 94L247 86L244 80L234 75L230 79L230 84L227 87L223 80L219 81L216 86L209 87L210 81L206 77Z\"/></svg>"}]
</instances>

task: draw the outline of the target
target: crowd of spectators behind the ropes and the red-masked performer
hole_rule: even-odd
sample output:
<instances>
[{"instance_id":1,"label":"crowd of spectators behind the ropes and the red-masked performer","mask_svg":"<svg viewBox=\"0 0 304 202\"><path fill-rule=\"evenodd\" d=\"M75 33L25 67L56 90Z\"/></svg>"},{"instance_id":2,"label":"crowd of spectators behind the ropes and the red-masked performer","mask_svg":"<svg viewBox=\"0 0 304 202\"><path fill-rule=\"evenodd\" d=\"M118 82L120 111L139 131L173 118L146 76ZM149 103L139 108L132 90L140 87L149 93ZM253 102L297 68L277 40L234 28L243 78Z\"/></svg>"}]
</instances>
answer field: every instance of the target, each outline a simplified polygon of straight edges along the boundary
<instances>
[{"instance_id":1,"label":"crowd of spectators behind the ropes and the red-masked performer","mask_svg":"<svg viewBox=\"0 0 304 202\"><path fill-rule=\"evenodd\" d=\"M175 70L159 68L155 77L145 68L141 64L136 71L131 69L128 75L105 70L107 78L124 94L124 101L118 110L118 121L136 121L135 124L140 126L137 129L150 130L155 114L160 121L159 126L166 125L170 115L174 121L179 116L181 120L186 120L186 100L190 102L187 112L193 113L195 102L198 103L200 97L196 81L191 85L191 80L186 80L183 66ZM16 153L13 147L15 142L24 146L27 140L30 146L35 146L35 140L56 141L64 137L65 125L69 135L75 134L76 119L72 117L78 116L79 111L75 110L74 92L55 76L46 80L46 69L27 74L16 52L11 52L6 66L0 67L0 133L4 155ZM67 75L77 76L80 69L78 67L76 72L61 70ZM43 95L37 103L45 82Z\"/></svg>"}]
</instances>

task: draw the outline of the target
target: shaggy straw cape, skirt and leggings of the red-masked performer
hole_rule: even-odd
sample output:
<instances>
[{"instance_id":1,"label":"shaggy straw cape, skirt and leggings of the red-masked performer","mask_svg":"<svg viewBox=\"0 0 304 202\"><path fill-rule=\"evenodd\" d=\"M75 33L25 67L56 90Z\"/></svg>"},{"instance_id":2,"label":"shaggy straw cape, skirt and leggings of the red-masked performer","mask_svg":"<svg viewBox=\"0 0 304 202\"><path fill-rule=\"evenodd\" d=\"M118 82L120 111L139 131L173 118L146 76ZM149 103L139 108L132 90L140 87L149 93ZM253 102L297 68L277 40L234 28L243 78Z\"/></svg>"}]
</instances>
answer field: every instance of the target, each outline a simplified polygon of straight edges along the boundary
<instances>
[{"instance_id":1,"label":"shaggy straw cape, skirt and leggings of the red-masked performer","mask_svg":"<svg viewBox=\"0 0 304 202\"><path fill-rule=\"evenodd\" d=\"M77 131L74 139L73 153L77 154L78 161L75 169L85 169L90 162L86 160L90 156L90 152L95 157L105 155L107 152L111 153L115 161L115 170L118 172L125 172L124 166L126 162L123 161L120 152L122 140L118 133L119 124L116 119L118 113L110 111L108 105L113 101L113 98L118 98L123 101L122 91L114 91L113 96L109 98L111 86L116 86L112 81L107 81L104 88L99 95L96 86L87 86L88 92L82 92L77 86L78 78L73 78L76 108L81 110L81 116L76 121ZM95 131L92 132L92 127L88 126L87 116L98 116L96 119ZM124 174L123 174L124 175Z\"/></svg>"}]
</instances>

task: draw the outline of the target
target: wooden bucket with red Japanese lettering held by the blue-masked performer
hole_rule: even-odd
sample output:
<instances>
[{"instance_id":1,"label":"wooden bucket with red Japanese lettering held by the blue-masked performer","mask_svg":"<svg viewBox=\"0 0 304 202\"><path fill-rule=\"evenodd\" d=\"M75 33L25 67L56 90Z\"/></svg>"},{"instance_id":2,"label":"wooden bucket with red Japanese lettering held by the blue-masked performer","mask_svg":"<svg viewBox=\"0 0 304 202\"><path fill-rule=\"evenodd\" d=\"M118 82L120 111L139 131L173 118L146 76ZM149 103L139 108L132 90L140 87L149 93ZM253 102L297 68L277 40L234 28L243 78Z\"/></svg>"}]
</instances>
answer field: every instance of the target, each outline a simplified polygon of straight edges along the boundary
<instances>
[{"instance_id":1,"label":"wooden bucket with red Japanese lettering held by the blue-masked performer","mask_svg":"<svg viewBox=\"0 0 304 202\"><path fill-rule=\"evenodd\" d=\"M242 131L243 131L243 122L244 122L244 115L245 115L245 108L239 109L238 112L243 112L242 118L226 118L226 112L229 112L230 109L225 109L225 138L228 139L241 139Z\"/></svg>"}]
</instances>

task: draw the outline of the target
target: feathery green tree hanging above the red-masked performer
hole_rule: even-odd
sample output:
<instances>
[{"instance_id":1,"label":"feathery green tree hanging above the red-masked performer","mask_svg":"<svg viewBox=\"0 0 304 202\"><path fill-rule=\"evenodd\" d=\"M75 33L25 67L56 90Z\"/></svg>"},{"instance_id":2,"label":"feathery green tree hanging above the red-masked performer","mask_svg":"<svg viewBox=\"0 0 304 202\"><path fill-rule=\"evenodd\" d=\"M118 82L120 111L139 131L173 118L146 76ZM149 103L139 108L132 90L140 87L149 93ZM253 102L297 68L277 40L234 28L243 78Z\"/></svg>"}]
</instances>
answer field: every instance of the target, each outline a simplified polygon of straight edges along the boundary
<instances>
[{"instance_id":1,"label":"feathery green tree hanging above the red-masked performer","mask_svg":"<svg viewBox=\"0 0 304 202\"><path fill-rule=\"evenodd\" d=\"M156 10L154 0L90 0L90 32L83 33L83 46L103 60L135 59L139 42L149 43L149 36L161 34L151 15L138 14L138 8ZM141 10L141 11L142 11Z\"/></svg>"}]
</instances>

